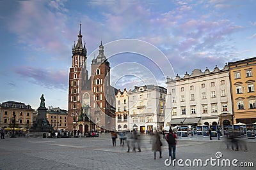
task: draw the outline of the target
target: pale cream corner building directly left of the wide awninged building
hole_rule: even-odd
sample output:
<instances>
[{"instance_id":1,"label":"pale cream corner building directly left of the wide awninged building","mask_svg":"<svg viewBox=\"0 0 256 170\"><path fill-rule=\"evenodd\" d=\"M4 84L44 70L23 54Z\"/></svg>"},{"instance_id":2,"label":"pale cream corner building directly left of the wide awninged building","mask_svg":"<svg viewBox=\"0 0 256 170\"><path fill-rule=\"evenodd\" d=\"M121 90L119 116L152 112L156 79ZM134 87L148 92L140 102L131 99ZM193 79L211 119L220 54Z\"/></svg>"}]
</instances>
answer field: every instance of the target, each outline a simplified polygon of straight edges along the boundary
<instances>
[{"instance_id":1,"label":"pale cream corner building directly left of the wide awninged building","mask_svg":"<svg viewBox=\"0 0 256 170\"><path fill-rule=\"evenodd\" d=\"M145 85L129 90L129 130L161 131L164 127L164 106L167 90Z\"/></svg>"}]
</instances>

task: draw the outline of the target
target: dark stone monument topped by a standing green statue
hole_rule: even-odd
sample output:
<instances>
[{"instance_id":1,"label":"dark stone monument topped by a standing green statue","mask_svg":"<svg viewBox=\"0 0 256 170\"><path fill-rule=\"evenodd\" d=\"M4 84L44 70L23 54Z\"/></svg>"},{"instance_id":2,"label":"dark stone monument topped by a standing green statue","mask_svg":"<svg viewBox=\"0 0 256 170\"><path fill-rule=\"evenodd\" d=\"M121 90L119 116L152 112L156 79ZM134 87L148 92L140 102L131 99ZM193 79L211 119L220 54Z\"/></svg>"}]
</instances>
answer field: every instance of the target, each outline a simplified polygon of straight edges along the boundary
<instances>
[{"instance_id":1,"label":"dark stone monument topped by a standing green statue","mask_svg":"<svg viewBox=\"0 0 256 170\"><path fill-rule=\"evenodd\" d=\"M37 109L36 121L33 122L33 127L30 129L30 131L35 133L36 136L53 131L49 121L46 118L47 108L45 108L44 94L42 94L40 100L41 102L39 108Z\"/></svg>"}]
</instances>

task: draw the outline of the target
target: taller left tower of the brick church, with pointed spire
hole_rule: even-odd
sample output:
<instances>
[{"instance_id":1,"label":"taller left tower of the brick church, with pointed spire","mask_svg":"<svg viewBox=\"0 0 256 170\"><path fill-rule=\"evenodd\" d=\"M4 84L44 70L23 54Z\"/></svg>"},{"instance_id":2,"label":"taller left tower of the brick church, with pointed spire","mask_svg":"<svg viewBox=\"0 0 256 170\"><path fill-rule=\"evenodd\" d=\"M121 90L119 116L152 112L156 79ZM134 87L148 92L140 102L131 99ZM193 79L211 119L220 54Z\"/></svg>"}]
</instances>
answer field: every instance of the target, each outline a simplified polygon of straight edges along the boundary
<instances>
[{"instance_id":1,"label":"taller left tower of the brick church, with pointed spire","mask_svg":"<svg viewBox=\"0 0 256 170\"><path fill-rule=\"evenodd\" d=\"M81 88L81 77L88 80L88 71L86 71L86 47L82 43L81 24L77 43L72 48L72 66L69 69L68 83L68 130L77 130L77 120L81 112L81 103L79 101L79 88ZM83 74L84 75L81 75ZM87 74L87 75L86 75Z\"/></svg>"}]
</instances>

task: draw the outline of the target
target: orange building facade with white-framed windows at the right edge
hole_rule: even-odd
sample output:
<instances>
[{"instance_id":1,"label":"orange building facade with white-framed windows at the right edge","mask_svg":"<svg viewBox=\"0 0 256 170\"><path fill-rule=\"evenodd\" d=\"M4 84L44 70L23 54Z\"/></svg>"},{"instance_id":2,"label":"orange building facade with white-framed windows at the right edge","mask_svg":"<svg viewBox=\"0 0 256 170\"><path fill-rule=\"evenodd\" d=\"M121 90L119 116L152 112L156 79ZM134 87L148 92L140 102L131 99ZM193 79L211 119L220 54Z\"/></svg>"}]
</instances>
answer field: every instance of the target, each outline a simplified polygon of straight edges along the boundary
<instances>
[{"instance_id":1,"label":"orange building facade with white-framed windows at the right edge","mask_svg":"<svg viewBox=\"0 0 256 170\"><path fill-rule=\"evenodd\" d=\"M256 122L256 57L228 62L234 123Z\"/></svg>"}]
</instances>

